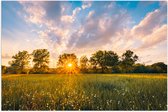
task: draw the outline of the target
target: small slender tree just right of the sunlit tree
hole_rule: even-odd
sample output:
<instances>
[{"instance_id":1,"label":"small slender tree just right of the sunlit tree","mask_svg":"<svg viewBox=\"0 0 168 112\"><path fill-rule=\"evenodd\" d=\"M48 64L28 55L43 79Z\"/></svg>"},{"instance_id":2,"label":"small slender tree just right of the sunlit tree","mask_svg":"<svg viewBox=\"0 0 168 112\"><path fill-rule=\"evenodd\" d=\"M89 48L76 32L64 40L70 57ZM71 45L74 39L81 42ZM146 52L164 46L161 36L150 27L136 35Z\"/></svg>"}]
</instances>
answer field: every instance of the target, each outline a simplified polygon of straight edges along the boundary
<instances>
[{"instance_id":1,"label":"small slender tree just right of the sunlit tree","mask_svg":"<svg viewBox=\"0 0 168 112\"><path fill-rule=\"evenodd\" d=\"M87 64L88 64L88 58L86 56L82 56L80 58L80 69L82 72L87 72Z\"/></svg>"}]
</instances>

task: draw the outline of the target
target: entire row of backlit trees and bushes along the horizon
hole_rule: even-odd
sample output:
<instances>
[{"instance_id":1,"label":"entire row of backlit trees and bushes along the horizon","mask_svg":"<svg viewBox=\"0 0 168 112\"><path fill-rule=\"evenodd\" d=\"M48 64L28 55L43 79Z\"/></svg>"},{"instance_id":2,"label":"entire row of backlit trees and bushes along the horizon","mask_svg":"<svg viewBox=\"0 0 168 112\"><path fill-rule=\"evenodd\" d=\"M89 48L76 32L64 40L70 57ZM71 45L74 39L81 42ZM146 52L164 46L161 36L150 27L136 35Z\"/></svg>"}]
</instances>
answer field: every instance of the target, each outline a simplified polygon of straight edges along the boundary
<instances>
[{"instance_id":1,"label":"entire row of backlit trees and bushes along the horizon","mask_svg":"<svg viewBox=\"0 0 168 112\"><path fill-rule=\"evenodd\" d=\"M2 65L3 74L29 73L167 73L167 65L157 62L152 65L136 63L138 56L126 50L121 56L113 51L99 50L90 58L64 53L59 56L57 67L49 68L50 53L47 49L36 49L31 54L19 51L12 56L9 67ZM33 67L30 66L33 63ZM68 64L72 67L68 68Z\"/></svg>"}]
</instances>

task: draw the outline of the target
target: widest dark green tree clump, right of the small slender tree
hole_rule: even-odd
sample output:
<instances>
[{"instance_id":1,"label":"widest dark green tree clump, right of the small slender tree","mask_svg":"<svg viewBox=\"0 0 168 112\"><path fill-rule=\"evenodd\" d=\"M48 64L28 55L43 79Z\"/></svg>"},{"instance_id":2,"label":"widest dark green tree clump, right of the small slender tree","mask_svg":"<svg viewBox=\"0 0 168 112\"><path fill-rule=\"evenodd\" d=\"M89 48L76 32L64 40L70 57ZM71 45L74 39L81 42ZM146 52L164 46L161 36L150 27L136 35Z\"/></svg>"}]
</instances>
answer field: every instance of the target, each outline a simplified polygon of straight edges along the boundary
<instances>
[{"instance_id":1,"label":"widest dark green tree clump, right of the small slender tree","mask_svg":"<svg viewBox=\"0 0 168 112\"><path fill-rule=\"evenodd\" d=\"M96 69L101 68L101 72L104 73L108 67L113 67L118 64L118 55L113 51L97 51L92 54L90 58L91 65Z\"/></svg>"}]
</instances>

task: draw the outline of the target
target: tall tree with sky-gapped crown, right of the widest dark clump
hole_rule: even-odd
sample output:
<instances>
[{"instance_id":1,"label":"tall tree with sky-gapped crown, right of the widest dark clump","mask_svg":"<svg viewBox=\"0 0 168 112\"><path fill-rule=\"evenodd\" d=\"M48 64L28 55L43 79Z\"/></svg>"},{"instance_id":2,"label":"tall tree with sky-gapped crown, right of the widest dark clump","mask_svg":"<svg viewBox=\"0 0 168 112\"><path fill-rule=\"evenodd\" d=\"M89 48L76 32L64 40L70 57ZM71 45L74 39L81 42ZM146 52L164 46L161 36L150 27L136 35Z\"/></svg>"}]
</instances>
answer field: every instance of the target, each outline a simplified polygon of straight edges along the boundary
<instances>
[{"instance_id":1,"label":"tall tree with sky-gapped crown, right of the widest dark clump","mask_svg":"<svg viewBox=\"0 0 168 112\"><path fill-rule=\"evenodd\" d=\"M121 66L123 72L131 72L133 70L133 65L138 60L138 56L134 54L133 51L127 50L122 55Z\"/></svg>"}]
</instances>

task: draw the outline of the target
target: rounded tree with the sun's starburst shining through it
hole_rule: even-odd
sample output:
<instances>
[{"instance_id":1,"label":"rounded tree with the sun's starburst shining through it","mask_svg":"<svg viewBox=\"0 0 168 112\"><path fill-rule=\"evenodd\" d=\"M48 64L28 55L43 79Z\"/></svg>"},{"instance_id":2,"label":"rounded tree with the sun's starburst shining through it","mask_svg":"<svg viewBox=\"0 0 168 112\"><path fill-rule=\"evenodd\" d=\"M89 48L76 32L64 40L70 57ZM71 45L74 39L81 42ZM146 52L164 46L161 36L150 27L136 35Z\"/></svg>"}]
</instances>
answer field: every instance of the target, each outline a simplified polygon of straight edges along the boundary
<instances>
[{"instance_id":1,"label":"rounded tree with the sun's starburst shining through it","mask_svg":"<svg viewBox=\"0 0 168 112\"><path fill-rule=\"evenodd\" d=\"M60 67L60 72L64 73L76 73L77 72L78 59L75 54L64 53L59 56L57 66Z\"/></svg>"}]
</instances>

